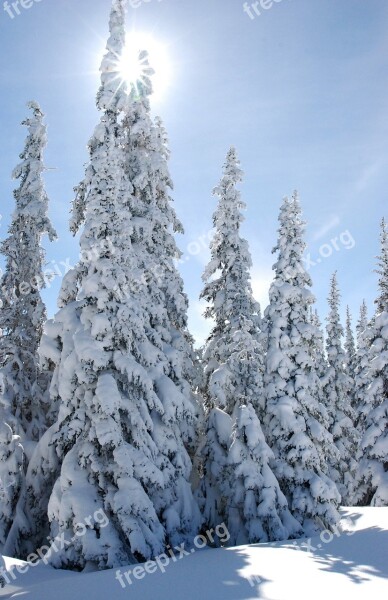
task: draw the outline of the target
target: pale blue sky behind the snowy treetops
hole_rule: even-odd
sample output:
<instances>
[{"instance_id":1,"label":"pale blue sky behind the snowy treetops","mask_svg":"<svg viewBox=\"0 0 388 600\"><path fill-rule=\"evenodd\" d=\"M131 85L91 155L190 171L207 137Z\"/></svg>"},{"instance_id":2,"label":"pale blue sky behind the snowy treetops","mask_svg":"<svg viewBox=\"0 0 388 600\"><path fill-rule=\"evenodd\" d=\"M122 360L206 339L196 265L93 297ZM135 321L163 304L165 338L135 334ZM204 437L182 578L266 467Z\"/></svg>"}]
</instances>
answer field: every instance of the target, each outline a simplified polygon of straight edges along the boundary
<instances>
[{"instance_id":1,"label":"pale blue sky behind the snowy treetops","mask_svg":"<svg viewBox=\"0 0 388 600\"><path fill-rule=\"evenodd\" d=\"M46 244L47 260L64 269L77 259L69 207L98 118L110 0L31 0L13 19L2 4L0 236L13 208L10 173L25 138L20 121L26 102L36 99L49 127L46 164L53 170L45 180L60 235ZM215 208L211 191L231 144L245 172L243 234L263 308L279 206L297 188L321 317L335 270L343 313L346 304L357 313L363 298L372 310L379 222L388 217L386 0L278 0L254 19L240 0L150 0L129 8L132 29L168 44L173 63L169 89L153 110L170 138L176 210L186 229L178 240L181 270L198 341L207 331L198 296ZM44 294L50 315L59 283L58 277Z\"/></svg>"}]
</instances>

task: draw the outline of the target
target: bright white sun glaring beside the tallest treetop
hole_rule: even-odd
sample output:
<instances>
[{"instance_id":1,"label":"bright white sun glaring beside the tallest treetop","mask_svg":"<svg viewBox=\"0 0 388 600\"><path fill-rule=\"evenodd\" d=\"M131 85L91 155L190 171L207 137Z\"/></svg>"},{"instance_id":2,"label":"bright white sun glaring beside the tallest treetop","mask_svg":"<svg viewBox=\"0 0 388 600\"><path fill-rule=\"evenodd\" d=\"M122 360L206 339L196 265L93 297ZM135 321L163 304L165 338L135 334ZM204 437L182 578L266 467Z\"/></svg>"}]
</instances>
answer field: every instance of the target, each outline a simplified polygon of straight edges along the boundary
<instances>
[{"instance_id":1,"label":"bright white sun glaring beside the tallest treetop","mask_svg":"<svg viewBox=\"0 0 388 600\"><path fill-rule=\"evenodd\" d=\"M139 52L148 52L148 62L155 71L152 76L153 98L161 99L171 81L171 61L167 47L149 34L131 32L120 59L120 77L128 87L141 81L145 74L145 65L139 61Z\"/></svg>"}]
</instances>

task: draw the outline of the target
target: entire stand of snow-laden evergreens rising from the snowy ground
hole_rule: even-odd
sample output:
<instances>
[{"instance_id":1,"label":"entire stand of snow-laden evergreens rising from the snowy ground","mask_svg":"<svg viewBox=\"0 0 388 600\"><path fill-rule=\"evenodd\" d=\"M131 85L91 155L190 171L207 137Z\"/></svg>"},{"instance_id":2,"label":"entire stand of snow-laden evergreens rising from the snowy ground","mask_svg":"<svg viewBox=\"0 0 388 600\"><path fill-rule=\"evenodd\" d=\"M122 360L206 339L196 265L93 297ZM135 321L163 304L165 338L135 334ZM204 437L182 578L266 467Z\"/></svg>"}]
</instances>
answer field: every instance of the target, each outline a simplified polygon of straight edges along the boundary
<instances>
[{"instance_id":1,"label":"entire stand of snow-laden evergreens rising from the snowy ground","mask_svg":"<svg viewBox=\"0 0 388 600\"><path fill-rule=\"evenodd\" d=\"M125 4L113 0L100 122L72 205L80 259L53 319L40 295L41 240L56 234L36 103L1 246L0 544L25 558L60 536L51 562L75 569L149 559L220 523L231 544L279 540L333 527L341 502L388 505L385 223L376 313L368 320L363 304L357 343L348 313L343 345L334 275L325 349L296 193L281 207L275 277L260 313L231 148L203 276L214 325L196 352L146 54L136 85L127 89L119 73ZM96 511L107 526L88 520Z\"/></svg>"}]
</instances>

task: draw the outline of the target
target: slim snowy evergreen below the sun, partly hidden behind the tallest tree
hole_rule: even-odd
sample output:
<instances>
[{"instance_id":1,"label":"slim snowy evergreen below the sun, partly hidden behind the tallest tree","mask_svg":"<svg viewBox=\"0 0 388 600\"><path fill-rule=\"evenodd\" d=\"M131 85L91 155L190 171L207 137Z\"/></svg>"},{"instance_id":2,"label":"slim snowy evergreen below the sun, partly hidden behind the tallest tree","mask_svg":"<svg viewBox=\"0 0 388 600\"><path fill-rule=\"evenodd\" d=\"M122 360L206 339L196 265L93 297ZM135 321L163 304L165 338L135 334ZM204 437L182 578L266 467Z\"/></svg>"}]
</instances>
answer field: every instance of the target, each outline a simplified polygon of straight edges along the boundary
<instances>
[{"instance_id":1,"label":"slim snowy evergreen below the sun, partly hidden behind the tallest tree","mask_svg":"<svg viewBox=\"0 0 388 600\"><path fill-rule=\"evenodd\" d=\"M193 415L198 414L198 404L192 389L197 372L193 339L187 329L188 299L176 267L181 252L174 238L175 233L183 233L183 227L170 195L173 183L168 170L166 130L159 117L153 122L150 115L152 70L144 52L139 60L143 78L131 90L124 120L126 167L133 186L132 244L141 260L143 283L152 299L146 307L152 323L150 341L163 355L166 376L189 399L189 404L183 402L187 412L180 426L187 448L193 453L196 448Z\"/></svg>"}]
</instances>

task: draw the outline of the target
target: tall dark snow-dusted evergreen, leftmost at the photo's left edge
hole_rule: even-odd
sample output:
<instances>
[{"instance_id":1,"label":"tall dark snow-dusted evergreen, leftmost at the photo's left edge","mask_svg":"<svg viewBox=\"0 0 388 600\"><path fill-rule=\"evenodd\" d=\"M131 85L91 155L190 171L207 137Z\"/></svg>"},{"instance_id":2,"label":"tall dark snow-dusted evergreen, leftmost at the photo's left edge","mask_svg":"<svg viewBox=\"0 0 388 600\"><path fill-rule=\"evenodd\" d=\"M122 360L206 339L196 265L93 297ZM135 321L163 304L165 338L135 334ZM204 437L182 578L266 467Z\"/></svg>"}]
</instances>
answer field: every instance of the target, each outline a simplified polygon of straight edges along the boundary
<instances>
[{"instance_id":1,"label":"tall dark snow-dusted evergreen, leftmost at the photo's left edge","mask_svg":"<svg viewBox=\"0 0 388 600\"><path fill-rule=\"evenodd\" d=\"M47 379L38 360L46 318L40 293L45 285L41 242L46 234L50 240L56 237L42 179L44 115L36 102L28 107L32 115L22 123L28 130L22 162L13 171L20 180L14 191L16 207L1 244L6 265L0 289L0 543L8 554L16 524L27 524L21 505L28 457L47 428Z\"/></svg>"}]
</instances>

